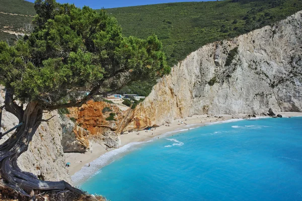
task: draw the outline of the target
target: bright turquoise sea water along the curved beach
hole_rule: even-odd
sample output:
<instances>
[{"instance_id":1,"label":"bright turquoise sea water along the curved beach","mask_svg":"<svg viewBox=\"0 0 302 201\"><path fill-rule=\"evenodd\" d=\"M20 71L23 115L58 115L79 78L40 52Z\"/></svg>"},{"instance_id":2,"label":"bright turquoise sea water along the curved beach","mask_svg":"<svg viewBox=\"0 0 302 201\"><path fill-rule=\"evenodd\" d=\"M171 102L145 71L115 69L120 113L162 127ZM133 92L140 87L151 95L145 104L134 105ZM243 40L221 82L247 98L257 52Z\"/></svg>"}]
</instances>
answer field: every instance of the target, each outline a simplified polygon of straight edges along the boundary
<instances>
[{"instance_id":1,"label":"bright turquoise sea water along the curved beach","mask_svg":"<svg viewBox=\"0 0 302 201\"><path fill-rule=\"evenodd\" d=\"M163 137L138 145L80 187L113 201L302 200L302 118Z\"/></svg>"}]
</instances>

